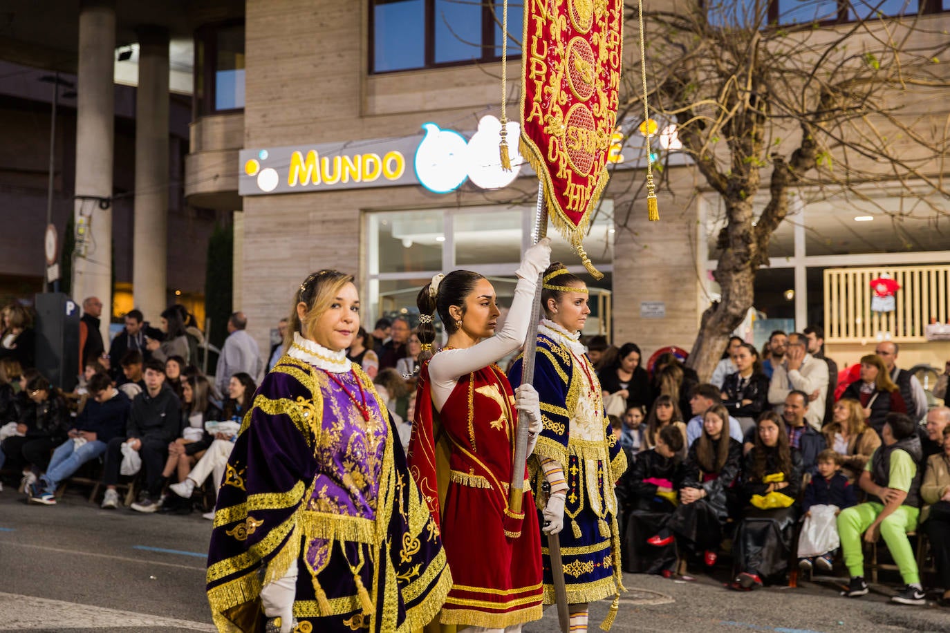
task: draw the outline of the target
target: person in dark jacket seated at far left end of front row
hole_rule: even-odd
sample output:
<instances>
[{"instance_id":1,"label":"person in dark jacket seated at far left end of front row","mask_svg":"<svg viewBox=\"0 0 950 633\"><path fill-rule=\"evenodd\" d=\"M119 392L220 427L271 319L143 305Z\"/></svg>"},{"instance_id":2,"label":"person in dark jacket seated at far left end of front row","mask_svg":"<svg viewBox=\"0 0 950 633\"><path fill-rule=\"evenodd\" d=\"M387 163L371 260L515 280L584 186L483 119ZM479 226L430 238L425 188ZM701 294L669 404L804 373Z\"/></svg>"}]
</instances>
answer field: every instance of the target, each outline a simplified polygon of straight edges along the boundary
<instances>
[{"instance_id":1,"label":"person in dark jacket seated at far left end of front row","mask_svg":"<svg viewBox=\"0 0 950 633\"><path fill-rule=\"evenodd\" d=\"M28 379L25 391L29 400L17 424L17 433L22 435L0 442L0 470L8 460L23 469L21 493L28 492L36 475L46 470L50 452L66 439L69 430L69 412L59 389L37 373Z\"/></svg>"}]
</instances>

